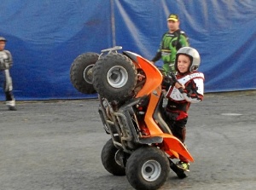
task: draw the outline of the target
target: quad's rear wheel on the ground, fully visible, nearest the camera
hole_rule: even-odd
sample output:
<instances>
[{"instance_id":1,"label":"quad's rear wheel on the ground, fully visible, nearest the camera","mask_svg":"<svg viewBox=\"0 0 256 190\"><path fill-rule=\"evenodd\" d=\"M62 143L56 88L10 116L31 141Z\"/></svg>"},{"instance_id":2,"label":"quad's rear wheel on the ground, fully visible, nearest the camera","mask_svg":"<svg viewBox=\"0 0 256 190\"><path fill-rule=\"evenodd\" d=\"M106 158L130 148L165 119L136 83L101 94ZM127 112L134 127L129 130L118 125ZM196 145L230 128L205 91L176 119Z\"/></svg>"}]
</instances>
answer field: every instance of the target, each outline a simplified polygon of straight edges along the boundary
<instances>
[{"instance_id":1,"label":"quad's rear wheel on the ground, fully visible, nearest the camera","mask_svg":"<svg viewBox=\"0 0 256 190\"><path fill-rule=\"evenodd\" d=\"M170 164L165 153L156 147L141 147L128 158L126 176L136 189L157 189L165 182Z\"/></svg>"}]
</instances>

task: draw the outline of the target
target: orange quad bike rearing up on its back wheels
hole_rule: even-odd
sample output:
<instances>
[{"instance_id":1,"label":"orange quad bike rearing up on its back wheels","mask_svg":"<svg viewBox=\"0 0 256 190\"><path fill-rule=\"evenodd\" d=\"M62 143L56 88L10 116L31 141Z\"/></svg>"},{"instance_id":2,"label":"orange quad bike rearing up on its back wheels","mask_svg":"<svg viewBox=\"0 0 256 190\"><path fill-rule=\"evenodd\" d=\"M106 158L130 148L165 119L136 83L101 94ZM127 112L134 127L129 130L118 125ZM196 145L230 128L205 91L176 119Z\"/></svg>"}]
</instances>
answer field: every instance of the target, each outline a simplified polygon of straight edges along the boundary
<instances>
[{"instance_id":1,"label":"orange quad bike rearing up on its back wheels","mask_svg":"<svg viewBox=\"0 0 256 190\"><path fill-rule=\"evenodd\" d=\"M170 169L186 177L172 158L194 160L165 122L160 70L141 55L119 49L102 50L91 69L98 112L111 136L102 148L102 164L114 176L126 175L136 189L157 189Z\"/></svg>"}]
</instances>

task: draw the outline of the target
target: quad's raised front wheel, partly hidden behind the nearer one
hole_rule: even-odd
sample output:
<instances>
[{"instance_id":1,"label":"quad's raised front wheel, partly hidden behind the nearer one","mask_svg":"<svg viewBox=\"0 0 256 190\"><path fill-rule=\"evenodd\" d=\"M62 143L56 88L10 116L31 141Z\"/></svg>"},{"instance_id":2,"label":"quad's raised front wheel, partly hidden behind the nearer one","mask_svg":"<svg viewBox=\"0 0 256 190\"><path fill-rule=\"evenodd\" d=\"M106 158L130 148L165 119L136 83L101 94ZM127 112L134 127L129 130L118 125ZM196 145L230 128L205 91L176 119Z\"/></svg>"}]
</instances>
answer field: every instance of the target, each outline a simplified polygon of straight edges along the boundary
<instances>
[{"instance_id":1,"label":"quad's raised front wheel, partly hidden behind the nearer one","mask_svg":"<svg viewBox=\"0 0 256 190\"><path fill-rule=\"evenodd\" d=\"M92 85L92 67L98 60L96 53L84 53L79 55L70 68L70 80L74 88L84 94L94 94L96 90Z\"/></svg>"}]
</instances>

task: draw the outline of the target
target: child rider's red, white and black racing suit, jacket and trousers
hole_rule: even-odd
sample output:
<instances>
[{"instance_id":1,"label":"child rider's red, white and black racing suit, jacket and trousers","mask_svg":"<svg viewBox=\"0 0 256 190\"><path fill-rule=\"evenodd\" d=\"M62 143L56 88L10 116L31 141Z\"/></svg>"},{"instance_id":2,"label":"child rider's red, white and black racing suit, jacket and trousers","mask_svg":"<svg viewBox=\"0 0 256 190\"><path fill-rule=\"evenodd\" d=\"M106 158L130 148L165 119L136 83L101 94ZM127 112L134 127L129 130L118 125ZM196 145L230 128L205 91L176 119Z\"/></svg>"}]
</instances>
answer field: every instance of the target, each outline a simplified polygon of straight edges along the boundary
<instances>
[{"instance_id":1,"label":"child rider's red, white and black racing suit, jacket and trousers","mask_svg":"<svg viewBox=\"0 0 256 190\"><path fill-rule=\"evenodd\" d=\"M180 92L175 84L168 89L166 98L166 123L172 130L172 135L184 142L186 137L186 124L188 121L188 110L191 103L202 101L204 94L204 74L201 72L187 72L177 74L177 81L184 85L185 89ZM186 158L180 157L183 162Z\"/></svg>"}]
</instances>

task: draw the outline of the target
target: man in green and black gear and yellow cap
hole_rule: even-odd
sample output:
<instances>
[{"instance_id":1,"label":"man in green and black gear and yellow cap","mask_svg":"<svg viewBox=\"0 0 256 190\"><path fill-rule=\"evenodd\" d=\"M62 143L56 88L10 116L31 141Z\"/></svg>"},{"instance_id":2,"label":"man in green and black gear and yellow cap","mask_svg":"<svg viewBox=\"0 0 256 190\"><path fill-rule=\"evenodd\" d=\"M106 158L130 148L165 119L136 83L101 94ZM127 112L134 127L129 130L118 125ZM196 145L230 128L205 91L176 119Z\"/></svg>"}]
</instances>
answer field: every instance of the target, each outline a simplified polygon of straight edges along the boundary
<instances>
[{"instance_id":1,"label":"man in green and black gear and yellow cap","mask_svg":"<svg viewBox=\"0 0 256 190\"><path fill-rule=\"evenodd\" d=\"M170 14L167 19L169 31L163 35L160 48L151 60L152 63L155 63L157 60L162 59L164 72L176 72L174 62L177 50L189 46L189 37L179 29L179 24L177 14Z\"/></svg>"}]
</instances>

